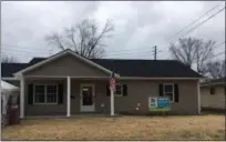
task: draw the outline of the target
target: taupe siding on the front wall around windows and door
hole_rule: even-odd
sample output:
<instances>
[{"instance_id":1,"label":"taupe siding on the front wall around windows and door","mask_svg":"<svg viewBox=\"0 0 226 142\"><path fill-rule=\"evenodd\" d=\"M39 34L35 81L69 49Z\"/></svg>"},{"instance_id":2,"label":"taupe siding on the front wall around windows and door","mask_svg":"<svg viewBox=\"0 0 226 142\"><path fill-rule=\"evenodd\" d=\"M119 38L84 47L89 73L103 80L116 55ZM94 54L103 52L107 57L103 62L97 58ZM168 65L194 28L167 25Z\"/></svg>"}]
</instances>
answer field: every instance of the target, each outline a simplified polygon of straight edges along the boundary
<instances>
[{"instance_id":1,"label":"taupe siding on the front wall around windows and door","mask_svg":"<svg viewBox=\"0 0 226 142\"><path fill-rule=\"evenodd\" d=\"M63 104L28 104L27 87L29 83L63 83L64 98ZM107 80L75 80L71 82L71 114L80 113L80 85L94 84L95 97L94 105L96 113L110 113L110 97L106 95ZM158 97L160 83L177 83L179 92L179 102L173 102L172 113L177 114L197 114L197 81L181 80L181 81L164 81L164 80L133 80L120 81L127 85L126 97L115 97L115 113L130 112L134 114L148 113L148 97ZM27 80L25 81L25 115L58 115L66 114L66 79L62 80ZM102 108L101 104L105 106ZM140 110L136 110L137 103L141 103Z\"/></svg>"}]
</instances>

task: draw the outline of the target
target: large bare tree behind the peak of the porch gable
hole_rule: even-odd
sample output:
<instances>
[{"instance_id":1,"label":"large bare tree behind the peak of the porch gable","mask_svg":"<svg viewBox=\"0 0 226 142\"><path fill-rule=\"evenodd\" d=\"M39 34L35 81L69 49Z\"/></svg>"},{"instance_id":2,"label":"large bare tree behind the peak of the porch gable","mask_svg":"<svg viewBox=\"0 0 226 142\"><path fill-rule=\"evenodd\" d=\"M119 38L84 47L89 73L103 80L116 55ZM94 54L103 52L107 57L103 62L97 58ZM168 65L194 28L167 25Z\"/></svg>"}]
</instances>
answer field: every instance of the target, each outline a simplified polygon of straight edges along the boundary
<instances>
[{"instance_id":1,"label":"large bare tree behind the peak of the porch gable","mask_svg":"<svg viewBox=\"0 0 226 142\"><path fill-rule=\"evenodd\" d=\"M61 50L71 49L85 58L101 58L105 47L103 39L111 37L113 30L111 20L106 20L103 29L99 29L95 20L85 19L76 26L65 28L62 34L54 32L47 36L45 40Z\"/></svg>"}]
</instances>

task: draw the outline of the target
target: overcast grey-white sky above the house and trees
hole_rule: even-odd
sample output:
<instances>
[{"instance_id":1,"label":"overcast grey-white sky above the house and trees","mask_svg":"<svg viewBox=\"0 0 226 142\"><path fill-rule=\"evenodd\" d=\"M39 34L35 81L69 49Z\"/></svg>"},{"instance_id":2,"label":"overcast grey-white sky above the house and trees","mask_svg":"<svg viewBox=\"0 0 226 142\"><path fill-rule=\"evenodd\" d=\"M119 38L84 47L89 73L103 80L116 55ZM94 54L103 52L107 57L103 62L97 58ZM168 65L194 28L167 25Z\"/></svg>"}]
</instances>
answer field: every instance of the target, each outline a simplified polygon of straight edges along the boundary
<instances>
[{"instance_id":1,"label":"overcast grey-white sky above the house and trees","mask_svg":"<svg viewBox=\"0 0 226 142\"><path fill-rule=\"evenodd\" d=\"M33 57L48 57L59 50L44 41L44 36L76 24L82 19L96 19L100 28L112 19L115 30L106 39L104 58L153 59L152 50L158 47L157 58L170 59L168 43L178 38L196 37L215 40L216 45L225 41L225 10L193 32L189 28L176 34L185 26L210 10L196 24L219 9L223 1L3 1L1 2L1 50L20 62ZM194 24L193 27L195 27ZM193 28L191 27L191 28ZM185 36L184 36L185 34ZM215 49L224 51L225 44ZM224 58L224 54L216 58Z\"/></svg>"}]
</instances>

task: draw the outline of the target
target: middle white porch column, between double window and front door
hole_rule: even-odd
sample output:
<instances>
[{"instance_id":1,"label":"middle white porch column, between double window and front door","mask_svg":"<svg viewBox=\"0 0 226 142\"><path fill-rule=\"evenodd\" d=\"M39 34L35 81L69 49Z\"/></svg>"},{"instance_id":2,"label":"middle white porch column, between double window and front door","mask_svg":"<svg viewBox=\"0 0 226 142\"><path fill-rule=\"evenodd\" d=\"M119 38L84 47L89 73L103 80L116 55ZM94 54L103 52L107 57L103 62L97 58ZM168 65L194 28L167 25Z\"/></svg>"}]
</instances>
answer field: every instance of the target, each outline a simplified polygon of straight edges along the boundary
<instances>
[{"instance_id":1,"label":"middle white porch column, between double window and front door","mask_svg":"<svg viewBox=\"0 0 226 142\"><path fill-rule=\"evenodd\" d=\"M66 77L66 116L71 116L71 78Z\"/></svg>"}]
</instances>

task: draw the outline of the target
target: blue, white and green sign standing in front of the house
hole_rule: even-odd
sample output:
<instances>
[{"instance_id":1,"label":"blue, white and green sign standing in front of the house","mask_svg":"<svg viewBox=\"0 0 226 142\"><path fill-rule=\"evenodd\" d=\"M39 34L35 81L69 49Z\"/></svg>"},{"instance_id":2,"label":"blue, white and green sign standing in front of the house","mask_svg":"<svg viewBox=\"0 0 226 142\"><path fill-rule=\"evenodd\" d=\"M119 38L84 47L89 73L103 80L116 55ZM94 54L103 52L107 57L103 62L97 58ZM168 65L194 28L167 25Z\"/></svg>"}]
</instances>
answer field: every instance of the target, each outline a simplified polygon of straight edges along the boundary
<instances>
[{"instance_id":1,"label":"blue, white and green sign standing in front of the house","mask_svg":"<svg viewBox=\"0 0 226 142\"><path fill-rule=\"evenodd\" d=\"M150 111L170 111L168 98L148 98Z\"/></svg>"}]
</instances>

